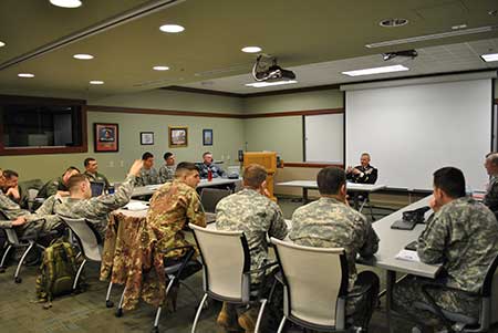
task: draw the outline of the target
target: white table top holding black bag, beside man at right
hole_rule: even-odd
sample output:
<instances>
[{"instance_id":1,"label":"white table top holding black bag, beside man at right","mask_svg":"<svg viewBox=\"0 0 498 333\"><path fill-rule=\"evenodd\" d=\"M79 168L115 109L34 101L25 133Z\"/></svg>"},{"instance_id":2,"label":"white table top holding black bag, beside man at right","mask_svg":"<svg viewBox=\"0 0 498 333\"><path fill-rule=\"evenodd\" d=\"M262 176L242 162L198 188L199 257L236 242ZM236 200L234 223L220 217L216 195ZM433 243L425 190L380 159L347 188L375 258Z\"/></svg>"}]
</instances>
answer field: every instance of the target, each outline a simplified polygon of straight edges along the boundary
<instances>
[{"instance_id":1,"label":"white table top holding black bag, beside man at right","mask_svg":"<svg viewBox=\"0 0 498 333\"><path fill-rule=\"evenodd\" d=\"M409 242L417 240L418 236L425 228L425 225L416 225L413 230L391 229L391 225L402 218L403 211L413 210L419 207L428 206L432 196L427 196L405 208L402 208L382 219L372 226L381 241L378 242L378 251L372 266L397 271L402 273L411 273L418 277L435 278L440 264L426 264L407 260L396 259L395 256L404 249ZM428 210L425 215L427 218L433 211Z\"/></svg>"}]
</instances>

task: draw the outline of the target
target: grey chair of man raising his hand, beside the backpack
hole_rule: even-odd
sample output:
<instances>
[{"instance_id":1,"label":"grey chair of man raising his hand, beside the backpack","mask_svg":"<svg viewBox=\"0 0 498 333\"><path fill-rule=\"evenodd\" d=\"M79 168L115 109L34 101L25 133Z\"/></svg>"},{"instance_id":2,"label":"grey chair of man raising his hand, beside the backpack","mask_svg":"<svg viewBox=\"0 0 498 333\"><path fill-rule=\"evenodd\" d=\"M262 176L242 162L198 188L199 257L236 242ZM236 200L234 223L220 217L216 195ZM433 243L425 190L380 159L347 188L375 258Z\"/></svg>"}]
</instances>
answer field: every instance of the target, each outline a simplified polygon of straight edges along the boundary
<instances>
[{"instance_id":1,"label":"grey chair of man raising his hand, beside the backpack","mask_svg":"<svg viewBox=\"0 0 498 333\"><path fill-rule=\"evenodd\" d=\"M92 227L90 220L85 218L73 219L63 216L60 216L60 218L71 229L72 236L76 239L84 258L74 278L73 290L75 290L86 261L102 261L102 242L100 241L98 232Z\"/></svg>"}]
</instances>

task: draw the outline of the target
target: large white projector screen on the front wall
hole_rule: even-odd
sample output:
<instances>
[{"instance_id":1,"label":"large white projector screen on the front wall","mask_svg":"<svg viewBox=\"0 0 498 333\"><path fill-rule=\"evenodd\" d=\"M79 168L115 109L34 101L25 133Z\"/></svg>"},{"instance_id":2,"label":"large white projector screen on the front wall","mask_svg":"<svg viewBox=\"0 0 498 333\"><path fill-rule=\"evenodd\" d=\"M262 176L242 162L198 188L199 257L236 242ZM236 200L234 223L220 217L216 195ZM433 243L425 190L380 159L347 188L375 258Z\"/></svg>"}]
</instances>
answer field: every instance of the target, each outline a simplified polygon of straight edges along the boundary
<instances>
[{"instance_id":1,"label":"large white projector screen on the front wall","mask_svg":"<svg viewBox=\"0 0 498 333\"><path fill-rule=\"evenodd\" d=\"M491 149L490 79L346 91L346 165L369 152L377 184L432 189L444 166L485 189L484 156Z\"/></svg>"}]
</instances>

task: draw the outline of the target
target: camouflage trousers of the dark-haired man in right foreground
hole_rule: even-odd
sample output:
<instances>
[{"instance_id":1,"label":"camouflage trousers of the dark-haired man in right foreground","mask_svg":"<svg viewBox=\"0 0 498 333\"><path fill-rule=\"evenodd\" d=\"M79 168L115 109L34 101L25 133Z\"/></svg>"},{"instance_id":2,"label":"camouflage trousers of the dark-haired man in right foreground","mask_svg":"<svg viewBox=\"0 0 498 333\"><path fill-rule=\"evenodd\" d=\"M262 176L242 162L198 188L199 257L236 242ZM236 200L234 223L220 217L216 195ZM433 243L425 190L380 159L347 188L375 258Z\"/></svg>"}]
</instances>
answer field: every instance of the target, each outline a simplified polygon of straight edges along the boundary
<instances>
[{"instance_id":1,"label":"camouflage trousers of the dark-haired man in right foreground","mask_svg":"<svg viewBox=\"0 0 498 333\"><path fill-rule=\"evenodd\" d=\"M430 304L426 295L422 291L422 287L426 283L443 283L445 279L432 280L414 275L408 275L400 283L396 283L393 291L394 309L396 311L408 314L415 321L428 322L437 320L437 316L428 311L415 309L415 302ZM468 294L449 290L428 290L430 296L436 304L444 310L463 313L470 316L477 316L479 313L479 302Z\"/></svg>"}]
</instances>

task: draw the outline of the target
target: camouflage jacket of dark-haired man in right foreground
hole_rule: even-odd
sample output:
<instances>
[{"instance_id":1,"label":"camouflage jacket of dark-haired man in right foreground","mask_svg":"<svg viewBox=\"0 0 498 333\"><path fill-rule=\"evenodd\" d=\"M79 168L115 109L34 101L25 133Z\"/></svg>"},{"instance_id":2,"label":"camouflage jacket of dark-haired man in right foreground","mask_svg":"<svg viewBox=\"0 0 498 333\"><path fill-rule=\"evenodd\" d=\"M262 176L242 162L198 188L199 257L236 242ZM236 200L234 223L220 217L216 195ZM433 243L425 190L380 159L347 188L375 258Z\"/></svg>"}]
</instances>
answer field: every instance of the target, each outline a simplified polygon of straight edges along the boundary
<instances>
[{"instance_id":1,"label":"camouflage jacket of dark-haired man in right foreground","mask_svg":"<svg viewBox=\"0 0 498 333\"><path fill-rule=\"evenodd\" d=\"M423 262L443 263L448 285L477 292L498 254L498 222L483 204L455 199L435 214L417 251Z\"/></svg>"}]
</instances>

